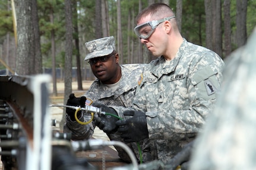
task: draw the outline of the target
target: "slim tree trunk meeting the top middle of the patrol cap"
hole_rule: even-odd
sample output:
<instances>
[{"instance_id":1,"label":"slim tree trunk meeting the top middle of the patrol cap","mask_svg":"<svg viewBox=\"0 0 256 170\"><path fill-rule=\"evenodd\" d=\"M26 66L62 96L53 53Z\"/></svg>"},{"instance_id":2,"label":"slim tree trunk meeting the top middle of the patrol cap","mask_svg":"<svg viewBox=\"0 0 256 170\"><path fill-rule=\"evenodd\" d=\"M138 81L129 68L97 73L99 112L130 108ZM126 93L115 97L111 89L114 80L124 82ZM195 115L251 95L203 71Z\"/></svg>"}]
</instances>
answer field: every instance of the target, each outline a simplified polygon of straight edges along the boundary
<instances>
[{"instance_id":1,"label":"slim tree trunk meeting the top middle of the patrol cap","mask_svg":"<svg viewBox=\"0 0 256 170\"><path fill-rule=\"evenodd\" d=\"M102 38L102 2L101 0L96 0L95 7L95 33L96 39Z\"/></svg>"}]
</instances>

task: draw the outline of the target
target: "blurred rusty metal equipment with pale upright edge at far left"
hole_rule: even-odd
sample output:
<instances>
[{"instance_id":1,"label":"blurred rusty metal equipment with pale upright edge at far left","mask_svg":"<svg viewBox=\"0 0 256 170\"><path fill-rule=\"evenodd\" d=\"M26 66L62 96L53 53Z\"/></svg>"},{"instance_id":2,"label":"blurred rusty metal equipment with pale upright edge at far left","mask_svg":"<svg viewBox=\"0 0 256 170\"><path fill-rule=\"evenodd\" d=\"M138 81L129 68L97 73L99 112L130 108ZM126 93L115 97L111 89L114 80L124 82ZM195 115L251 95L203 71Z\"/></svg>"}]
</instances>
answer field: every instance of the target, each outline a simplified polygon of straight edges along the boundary
<instances>
[{"instance_id":1,"label":"blurred rusty metal equipment with pale upright edge at far left","mask_svg":"<svg viewBox=\"0 0 256 170\"><path fill-rule=\"evenodd\" d=\"M50 169L49 82L49 75L0 76L4 169Z\"/></svg>"}]
</instances>

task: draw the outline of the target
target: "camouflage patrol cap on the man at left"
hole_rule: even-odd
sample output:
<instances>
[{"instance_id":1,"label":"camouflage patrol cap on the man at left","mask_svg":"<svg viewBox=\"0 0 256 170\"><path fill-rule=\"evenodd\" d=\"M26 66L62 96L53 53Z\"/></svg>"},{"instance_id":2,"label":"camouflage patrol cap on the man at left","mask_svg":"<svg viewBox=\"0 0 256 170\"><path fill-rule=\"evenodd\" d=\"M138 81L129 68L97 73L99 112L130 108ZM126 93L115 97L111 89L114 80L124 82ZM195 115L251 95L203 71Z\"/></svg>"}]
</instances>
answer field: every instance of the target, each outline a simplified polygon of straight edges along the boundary
<instances>
[{"instance_id":1,"label":"camouflage patrol cap on the man at left","mask_svg":"<svg viewBox=\"0 0 256 170\"><path fill-rule=\"evenodd\" d=\"M84 60L106 56L115 50L115 39L113 36L96 39L86 43L88 54Z\"/></svg>"}]
</instances>

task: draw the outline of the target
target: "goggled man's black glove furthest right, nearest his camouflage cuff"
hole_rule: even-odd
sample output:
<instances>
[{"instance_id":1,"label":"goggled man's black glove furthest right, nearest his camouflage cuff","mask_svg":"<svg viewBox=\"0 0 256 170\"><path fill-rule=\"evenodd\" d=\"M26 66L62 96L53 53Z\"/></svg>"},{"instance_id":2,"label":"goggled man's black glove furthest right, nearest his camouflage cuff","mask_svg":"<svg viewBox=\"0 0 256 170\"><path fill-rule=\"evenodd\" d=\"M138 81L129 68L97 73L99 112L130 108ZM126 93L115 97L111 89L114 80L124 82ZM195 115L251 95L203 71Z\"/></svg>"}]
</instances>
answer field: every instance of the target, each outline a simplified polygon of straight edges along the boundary
<instances>
[{"instance_id":1,"label":"goggled man's black glove furthest right, nearest his camouflage cuff","mask_svg":"<svg viewBox=\"0 0 256 170\"><path fill-rule=\"evenodd\" d=\"M116 125L119 126L118 132L124 142L138 142L148 138L147 119L145 113L141 111L127 110L124 116L133 116L126 120L119 120Z\"/></svg>"}]
</instances>

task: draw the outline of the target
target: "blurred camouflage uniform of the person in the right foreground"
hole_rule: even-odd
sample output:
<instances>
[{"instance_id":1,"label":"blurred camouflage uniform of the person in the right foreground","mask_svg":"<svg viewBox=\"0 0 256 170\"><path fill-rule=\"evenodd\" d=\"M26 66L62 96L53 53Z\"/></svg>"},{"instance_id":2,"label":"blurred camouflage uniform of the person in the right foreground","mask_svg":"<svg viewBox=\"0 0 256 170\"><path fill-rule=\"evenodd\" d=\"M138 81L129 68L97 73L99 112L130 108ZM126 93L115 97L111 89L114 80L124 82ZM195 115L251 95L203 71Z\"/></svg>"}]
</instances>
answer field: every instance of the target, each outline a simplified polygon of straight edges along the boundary
<instances>
[{"instance_id":1,"label":"blurred camouflage uniform of the person in the right foreground","mask_svg":"<svg viewBox=\"0 0 256 170\"><path fill-rule=\"evenodd\" d=\"M255 43L256 29L245 46L226 58L223 91L197 137L189 169L256 168Z\"/></svg>"}]
</instances>

